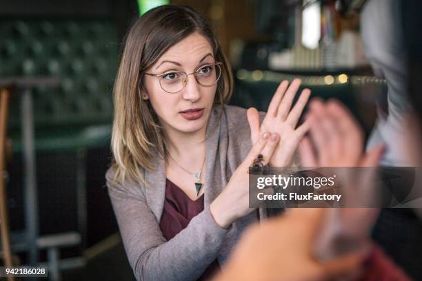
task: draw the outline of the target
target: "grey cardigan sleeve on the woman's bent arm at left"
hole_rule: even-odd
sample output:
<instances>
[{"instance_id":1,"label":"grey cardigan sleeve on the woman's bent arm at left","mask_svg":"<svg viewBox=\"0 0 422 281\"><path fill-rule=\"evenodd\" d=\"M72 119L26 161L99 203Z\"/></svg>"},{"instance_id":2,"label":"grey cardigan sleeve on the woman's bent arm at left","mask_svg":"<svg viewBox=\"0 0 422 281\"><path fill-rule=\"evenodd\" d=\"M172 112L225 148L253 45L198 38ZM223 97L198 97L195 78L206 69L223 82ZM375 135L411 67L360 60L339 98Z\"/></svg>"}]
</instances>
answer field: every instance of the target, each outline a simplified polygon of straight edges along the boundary
<instances>
[{"instance_id":1,"label":"grey cardigan sleeve on the woman's bent arm at left","mask_svg":"<svg viewBox=\"0 0 422 281\"><path fill-rule=\"evenodd\" d=\"M209 207L167 241L141 189L115 183L110 170L106 180L125 251L137 280L196 280L217 258L229 229L222 229L214 222Z\"/></svg>"}]
</instances>

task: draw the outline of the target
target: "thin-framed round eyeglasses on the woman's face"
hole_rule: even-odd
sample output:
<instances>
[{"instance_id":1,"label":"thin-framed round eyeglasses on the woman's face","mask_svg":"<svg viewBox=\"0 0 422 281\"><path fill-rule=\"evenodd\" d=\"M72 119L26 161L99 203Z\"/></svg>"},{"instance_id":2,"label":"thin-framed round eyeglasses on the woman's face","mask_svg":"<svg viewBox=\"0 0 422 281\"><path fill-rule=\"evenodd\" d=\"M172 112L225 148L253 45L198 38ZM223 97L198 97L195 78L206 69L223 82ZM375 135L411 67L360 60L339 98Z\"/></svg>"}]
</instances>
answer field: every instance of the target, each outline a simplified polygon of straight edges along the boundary
<instances>
[{"instance_id":1,"label":"thin-framed round eyeglasses on the woman's face","mask_svg":"<svg viewBox=\"0 0 422 281\"><path fill-rule=\"evenodd\" d=\"M188 84L188 75L193 74L199 85L210 87L219 81L221 75L221 66L223 63L211 63L202 65L195 72L186 73L183 71L165 72L163 74L153 74L143 72L144 74L159 77L161 88L168 93L174 94L183 90Z\"/></svg>"}]
</instances>

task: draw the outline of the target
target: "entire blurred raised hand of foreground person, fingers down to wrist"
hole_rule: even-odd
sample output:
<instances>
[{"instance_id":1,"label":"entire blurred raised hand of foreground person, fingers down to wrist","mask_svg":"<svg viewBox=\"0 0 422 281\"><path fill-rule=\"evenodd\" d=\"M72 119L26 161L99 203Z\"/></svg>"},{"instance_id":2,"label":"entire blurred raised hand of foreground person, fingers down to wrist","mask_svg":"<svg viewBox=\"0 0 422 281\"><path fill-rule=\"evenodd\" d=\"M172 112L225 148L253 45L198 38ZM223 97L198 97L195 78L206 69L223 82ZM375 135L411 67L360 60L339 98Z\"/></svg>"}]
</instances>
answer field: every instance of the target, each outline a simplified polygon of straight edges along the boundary
<instances>
[{"instance_id":1,"label":"entire blurred raised hand of foreground person, fingers down to wrist","mask_svg":"<svg viewBox=\"0 0 422 281\"><path fill-rule=\"evenodd\" d=\"M303 167L333 167L345 207L329 208L316 237L314 252L323 260L368 247L369 233L379 214L379 198L374 169L383 153L383 145L363 152L364 135L352 114L339 101L310 102L306 118L311 120L310 134L299 146ZM341 167L341 168L339 168ZM330 169L324 169L330 173Z\"/></svg>"}]
</instances>

